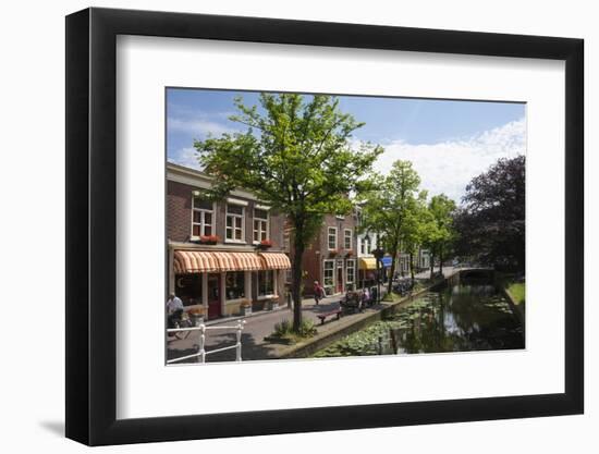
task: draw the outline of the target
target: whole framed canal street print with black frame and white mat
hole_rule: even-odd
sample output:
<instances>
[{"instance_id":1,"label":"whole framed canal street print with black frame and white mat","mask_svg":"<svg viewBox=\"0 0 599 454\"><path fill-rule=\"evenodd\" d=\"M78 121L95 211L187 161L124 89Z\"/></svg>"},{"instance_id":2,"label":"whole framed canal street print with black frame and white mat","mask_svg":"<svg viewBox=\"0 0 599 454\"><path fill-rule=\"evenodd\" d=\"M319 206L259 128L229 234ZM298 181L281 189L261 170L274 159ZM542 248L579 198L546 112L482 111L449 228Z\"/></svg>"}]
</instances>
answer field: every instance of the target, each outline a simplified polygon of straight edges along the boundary
<instances>
[{"instance_id":1,"label":"whole framed canal street print with black frame and white mat","mask_svg":"<svg viewBox=\"0 0 599 454\"><path fill-rule=\"evenodd\" d=\"M66 17L66 435L583 413L583 41Z\"/></svg>"}]
</instances>

